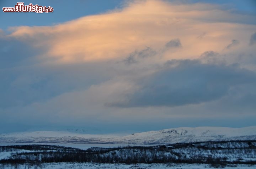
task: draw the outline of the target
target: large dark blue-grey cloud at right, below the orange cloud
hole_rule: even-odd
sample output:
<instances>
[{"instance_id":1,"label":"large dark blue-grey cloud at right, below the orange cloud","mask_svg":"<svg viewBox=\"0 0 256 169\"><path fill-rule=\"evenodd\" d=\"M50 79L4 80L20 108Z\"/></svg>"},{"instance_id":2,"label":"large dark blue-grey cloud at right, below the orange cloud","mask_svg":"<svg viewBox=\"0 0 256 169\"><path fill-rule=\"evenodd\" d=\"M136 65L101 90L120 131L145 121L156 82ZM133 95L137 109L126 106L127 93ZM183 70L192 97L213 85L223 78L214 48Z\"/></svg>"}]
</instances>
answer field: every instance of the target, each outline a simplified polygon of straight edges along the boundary
<instances>
[{"instance_id":1,"label":"large dark blue-grey cloud at right, below the orange cloud","mask_svg":"<svg viewBox=\"0 0 256 169\"><path fill-rule=\"evenodd\" d=\"M138 91L116 107L182 106L222 98L231 88L256 85L256 74L237 66L202 64L199 60L171 60L165 68L137 83ZM170 66L168 66L170 65ZM175 68L173 68L173 65Z\"/></svg>"}]
</instances>

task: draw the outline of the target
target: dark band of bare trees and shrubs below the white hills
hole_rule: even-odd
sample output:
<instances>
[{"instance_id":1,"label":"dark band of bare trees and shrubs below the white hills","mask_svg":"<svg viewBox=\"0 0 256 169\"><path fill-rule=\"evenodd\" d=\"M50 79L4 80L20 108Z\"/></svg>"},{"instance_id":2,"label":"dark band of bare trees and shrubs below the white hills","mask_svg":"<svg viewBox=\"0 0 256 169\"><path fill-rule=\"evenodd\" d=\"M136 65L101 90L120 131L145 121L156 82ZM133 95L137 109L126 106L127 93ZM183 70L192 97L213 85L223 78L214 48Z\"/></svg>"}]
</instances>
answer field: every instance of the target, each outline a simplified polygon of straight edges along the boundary
<instances>
[{"instance_id":1,"label":"dark band of bare trees and shrubs below the white hills","mask_svg":"<svg viewBox=\"0 0 256 169\"><path fill-rule=\"evenodd\" d=\"M256 164L255 140L208 141L149 147L92 147L87 150L50 145L15 145L0 146L0 152L13 152L9 158L0 160L1 165L38 165L52 162L204 163L218 168L227 164Z\"/></svg>"}]
</instances>

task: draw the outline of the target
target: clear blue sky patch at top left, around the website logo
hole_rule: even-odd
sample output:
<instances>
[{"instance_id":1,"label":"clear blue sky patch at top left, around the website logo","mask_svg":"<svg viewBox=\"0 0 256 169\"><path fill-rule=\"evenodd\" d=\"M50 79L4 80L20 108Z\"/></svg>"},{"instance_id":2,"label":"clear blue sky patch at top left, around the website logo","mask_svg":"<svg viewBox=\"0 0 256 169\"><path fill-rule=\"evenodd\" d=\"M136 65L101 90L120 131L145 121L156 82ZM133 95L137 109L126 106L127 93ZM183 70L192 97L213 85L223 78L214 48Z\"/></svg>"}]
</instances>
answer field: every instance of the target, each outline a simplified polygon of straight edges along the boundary
<instances>
[{"instance_id":1,"label":"clear blue sky patch at top left, around the website logo","mask_svg":"<svg viewBox=\"0 0 256 169\"><path fill-rule=\"evenodd\" d=\"M6 29L8 27L30 25L30 26L44 26L54 25L72 19L76 19L86 15L98 14L113 10L121 7L121 0L78 0L76 2L66 0L37 0L37 1L22 1L25 5L30 3L41 6L51 6L54 8L53 13L20 13L19 19L17 19L16 13L1 13L1 28ZM3 0L0 2L2 7L14 7L17 1ZM100 4L100 5L99 5Z\"/></svg>"}]
</instances>

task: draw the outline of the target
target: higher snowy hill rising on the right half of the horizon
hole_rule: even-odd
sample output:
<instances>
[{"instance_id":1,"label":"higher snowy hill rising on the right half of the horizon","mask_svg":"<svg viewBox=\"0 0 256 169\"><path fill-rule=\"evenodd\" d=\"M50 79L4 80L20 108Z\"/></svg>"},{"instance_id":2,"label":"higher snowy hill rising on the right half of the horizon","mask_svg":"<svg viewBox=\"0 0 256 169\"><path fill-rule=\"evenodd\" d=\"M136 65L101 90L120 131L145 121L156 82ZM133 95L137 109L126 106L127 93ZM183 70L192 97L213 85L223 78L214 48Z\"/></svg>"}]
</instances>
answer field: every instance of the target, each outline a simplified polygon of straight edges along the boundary
<instances>
[{"instance_id":1,"label":"higher snowy hill rising on the right half of the horizon","mask_svg":"<svg viewBox=\"0 0 256 169\"><path fill-rule=\"evenodd\" d=\"M117 142L134 144L176 143L220 140L255 140L256 126L245 128L196 127L173 128L124 136Z\"/></svg>"}]
</instances>

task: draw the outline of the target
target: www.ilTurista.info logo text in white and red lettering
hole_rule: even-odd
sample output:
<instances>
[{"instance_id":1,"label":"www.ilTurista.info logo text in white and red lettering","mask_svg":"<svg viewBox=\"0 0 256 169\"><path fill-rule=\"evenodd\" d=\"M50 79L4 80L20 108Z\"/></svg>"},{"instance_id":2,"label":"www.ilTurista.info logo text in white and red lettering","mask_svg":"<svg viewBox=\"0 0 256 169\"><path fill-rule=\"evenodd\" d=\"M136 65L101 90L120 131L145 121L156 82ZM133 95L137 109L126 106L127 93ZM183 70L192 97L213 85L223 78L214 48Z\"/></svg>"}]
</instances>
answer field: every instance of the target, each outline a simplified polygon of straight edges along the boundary
<instances>
[{"instance_id":1,"label":"www.ilTurista.info logo text in white and red lettering","mask_svg":"<svg viewBox=\"0 0 256 169\"><path fill-rule=\"evenodd\" d=\"M14 7L4 7L3 12L38 12L38 13L43 13L43 12L53 12L52 7L46 7L46 6L39 6L39 5L24 5L23 2L18 2L17 5Z\"/></svg>"}]
</instances>

